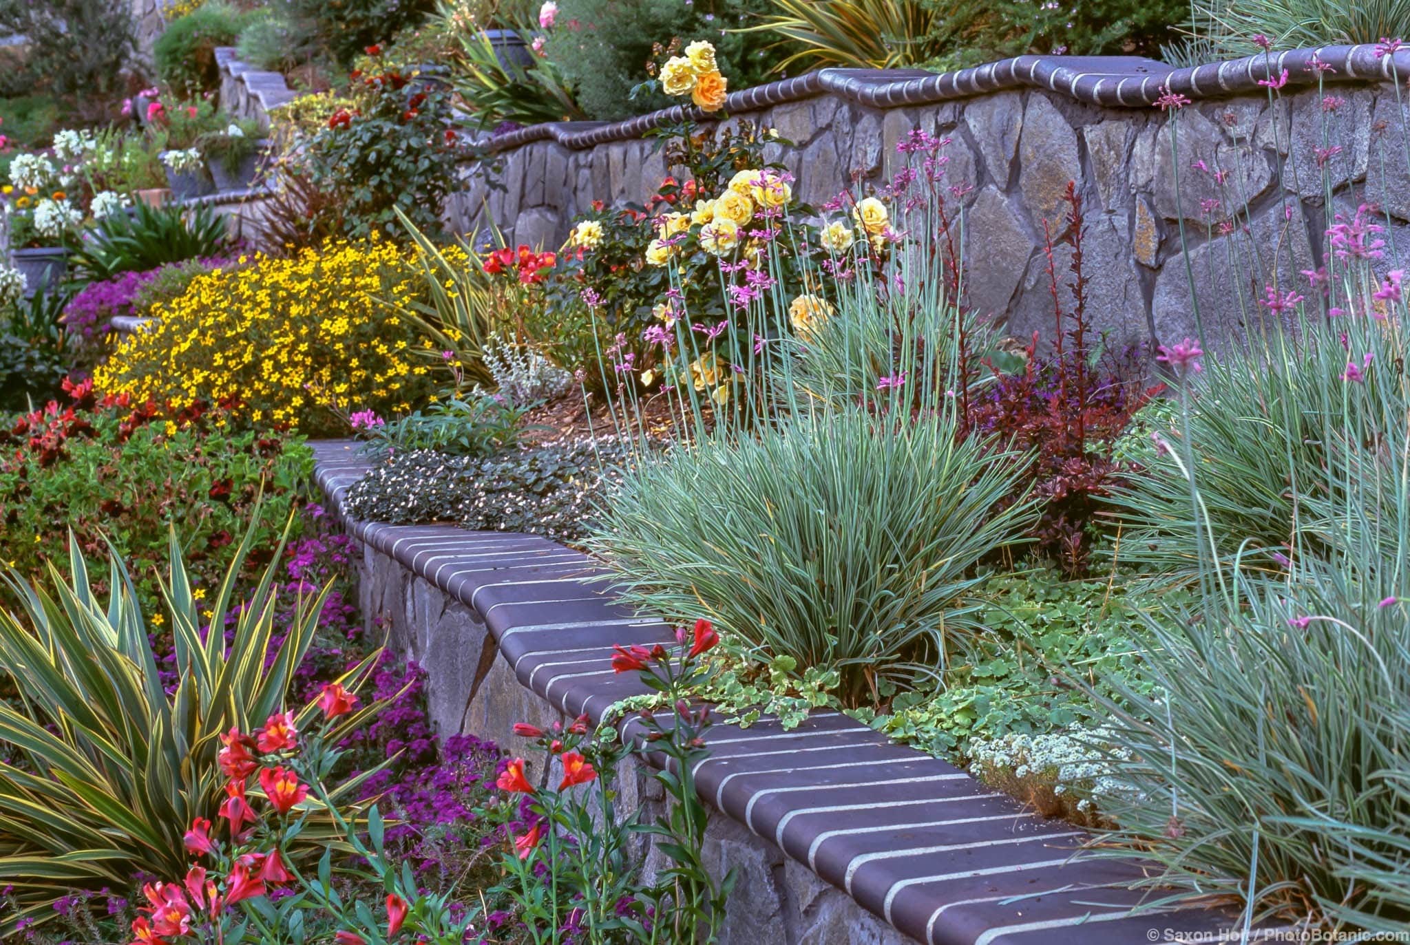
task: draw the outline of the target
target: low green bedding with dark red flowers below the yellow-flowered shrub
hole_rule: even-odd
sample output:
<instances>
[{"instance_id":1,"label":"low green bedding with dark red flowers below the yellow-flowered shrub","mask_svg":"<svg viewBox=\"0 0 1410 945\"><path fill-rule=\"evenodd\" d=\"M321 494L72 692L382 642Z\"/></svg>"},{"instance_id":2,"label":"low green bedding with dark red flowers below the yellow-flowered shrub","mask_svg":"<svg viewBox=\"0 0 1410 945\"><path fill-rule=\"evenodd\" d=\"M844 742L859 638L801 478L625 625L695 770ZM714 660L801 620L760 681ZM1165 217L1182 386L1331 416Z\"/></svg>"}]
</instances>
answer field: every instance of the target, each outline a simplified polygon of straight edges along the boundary
<instances>
[{"instance_id":1,"label":"low green bedding with dark red flowers below the yellow-flowered shrub","mask_svg":"<svg viewBox=\"0 0 1410 945\"><path fill-rule=\"evenodd\" d=\"M257 502L265 516L251 564L264 563L313 468L300 437L240 430L226 406L97 396L92 381L63 389L0 427L0 544L11 567L42 574L45 560L62 560L72 530L87 554L106 553L111 542L151 606L159 601L154 571L166 561L176 522L204 594L219 585Z\"/></svg>"}]
</instances>

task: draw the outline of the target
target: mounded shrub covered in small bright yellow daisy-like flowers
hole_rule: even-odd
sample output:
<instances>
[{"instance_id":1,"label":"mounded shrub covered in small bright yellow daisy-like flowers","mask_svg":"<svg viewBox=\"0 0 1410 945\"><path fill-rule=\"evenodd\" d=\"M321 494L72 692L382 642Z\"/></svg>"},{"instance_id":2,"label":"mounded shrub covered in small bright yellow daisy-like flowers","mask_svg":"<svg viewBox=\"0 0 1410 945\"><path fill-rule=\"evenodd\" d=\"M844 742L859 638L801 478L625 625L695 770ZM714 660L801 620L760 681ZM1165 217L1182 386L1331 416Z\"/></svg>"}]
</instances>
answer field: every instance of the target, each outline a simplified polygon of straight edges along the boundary
<instances>
[{"instance_id":1,"label":"mounded shrub covered in small bright yellow daisy-like flowers","mask_svg":"<svg viewBox=\"0 0 1410 945\"><path fill-rule=\"evenodd\" d=\"M399 309L424 296L413 251L334 241L257 255L157 305L94 374L102 394L238 405L250 423L341 432L340 410L391 415L431 391L431 358Z\"/></svg>"}]
</instances>

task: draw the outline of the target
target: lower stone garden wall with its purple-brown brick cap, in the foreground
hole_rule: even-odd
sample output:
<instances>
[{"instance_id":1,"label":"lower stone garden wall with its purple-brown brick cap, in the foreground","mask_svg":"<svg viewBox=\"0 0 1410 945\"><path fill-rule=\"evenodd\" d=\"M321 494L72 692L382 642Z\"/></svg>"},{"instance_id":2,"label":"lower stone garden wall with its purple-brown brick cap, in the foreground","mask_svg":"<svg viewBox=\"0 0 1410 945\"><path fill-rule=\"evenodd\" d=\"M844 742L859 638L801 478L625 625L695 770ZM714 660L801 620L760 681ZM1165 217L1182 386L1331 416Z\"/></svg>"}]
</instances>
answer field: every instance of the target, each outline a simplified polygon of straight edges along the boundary
<instances>
[{"instance_id":1,"label":"lower stone garden wall with its purple-brown brick cap, in the foreground","mask_svg":"<svg viewBox=\"0 0 1410 945\"><path fill-rule=\"evenodd\" d=\"M367 463L347 441L314 444L334 508ZM674 646L671 628L633 614L592 560L529 535L345 520L361 543L362 614L429 671L441 735L510 749L510 726L587 714L644 691L611 669L613 643ZM619 726L625 739L640 724ZM722 945L1131 945L1234 928L1208 911L1136 914L1131 863L1072 860L1084 839L939 759L894 745L836 712L783 731L716 726L695 769L718 811L705 859L736 869ZM661 812L646 769L618 807ZM660 863L649 853L647 869ZM1222 941L1222 939L1220 939Z\"/></svg>"}]
</instances>

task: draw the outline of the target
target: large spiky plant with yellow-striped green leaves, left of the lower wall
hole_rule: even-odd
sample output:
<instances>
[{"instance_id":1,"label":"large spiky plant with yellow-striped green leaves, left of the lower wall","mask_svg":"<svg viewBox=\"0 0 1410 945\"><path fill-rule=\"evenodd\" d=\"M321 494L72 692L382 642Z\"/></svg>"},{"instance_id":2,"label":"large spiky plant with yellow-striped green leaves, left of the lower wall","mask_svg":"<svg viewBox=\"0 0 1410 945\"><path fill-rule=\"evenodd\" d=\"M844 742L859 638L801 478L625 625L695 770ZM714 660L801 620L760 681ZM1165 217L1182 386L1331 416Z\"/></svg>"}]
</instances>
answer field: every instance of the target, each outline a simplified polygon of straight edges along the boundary
<instances>
[{"instance_id":1,"label":"large spiky plant with yellow-striped green leaves, left of the lower wall","mask_svg":"<svg viewBox=\"0 0 1410 945\"><path fill-rule=\"evenodd\" d=\"M165 608L157 615L141 612L116 554L102 601L72 537L68 577L54 564L48 587L14 573L4 577L17 608L0 611L0 670L20 693L17 707L0 702L0 740L11 749L11 759L0 762L0 883L21 907L4 917L7 928L51 918L51 904L75 889L123 889L140 873L186 873L185 831L196 818L216 819L226 795L216 760L220 736L231 728L250 732L286 711L329 592L298 601L275 645L276 630L285 629L275 626L274 591L282 542L250 597L234 599L252 536L247 532L220 587L203 601L173 532ZM164 623L176 653L178 680L169 691L148 642L149 629ZM228 643L219 629L226 626L234 628ZM340 681L355 688L375 659ZM329 743L378 708L340 719ZM314 711L298 711L296 724ZM330 798L351 805L365 777L345 781ZM293 858L317 859L337 836L331 815L317 817L299 835Z\"/></svg>"}]
</instances>

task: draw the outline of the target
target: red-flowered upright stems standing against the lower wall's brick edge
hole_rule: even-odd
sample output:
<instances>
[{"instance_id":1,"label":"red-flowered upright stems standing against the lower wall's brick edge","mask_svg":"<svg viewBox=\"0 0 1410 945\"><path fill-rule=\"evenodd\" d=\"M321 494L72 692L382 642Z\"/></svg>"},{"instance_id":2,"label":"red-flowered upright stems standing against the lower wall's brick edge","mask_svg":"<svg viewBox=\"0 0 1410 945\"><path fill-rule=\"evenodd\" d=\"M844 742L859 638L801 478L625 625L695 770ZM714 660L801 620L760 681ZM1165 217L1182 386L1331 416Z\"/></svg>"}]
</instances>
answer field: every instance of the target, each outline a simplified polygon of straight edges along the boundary
<instances>
[{"instance_id":1,"label":"red-flowered upright stems standing against the lower wall's brick edge","mask_svg":"<svg viewBox=\"0 0 1410 945\"><path fill-rule=\"evenodd\" d=\"M623 739L611 725L592 732L587 715L567 726L515 726L544 763L537 784L523 757L501 767L499 790L523 800L501 804L501 815L515 819L503 858L506 877L491 893L513 903L515 918L533 941L582 932L594 941L603 934L642 942L715 939L733 872L716 880L701 858L709 814L694 772L708 756L711 711L692 705L688 694L709 674L701 657L718 643L713 626L702 619L689 633L682 628L675 646L613 647L612 669L637 673L654 694L651 702L670 708L668 721L664 712L642 708ZM663 786L670 810L656 822L615 810L620 764L633 755L657 759L647 770ZM550 787L554 777L557 787ZM651 883L637 879L642 863L633 850L640 853L640 845L632 842L637 836L656 838L670 862ZM704 939L697 938L701 929Z\"/></svg>"}]
</instances>

